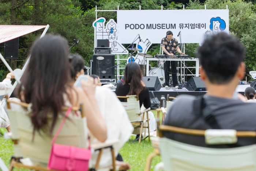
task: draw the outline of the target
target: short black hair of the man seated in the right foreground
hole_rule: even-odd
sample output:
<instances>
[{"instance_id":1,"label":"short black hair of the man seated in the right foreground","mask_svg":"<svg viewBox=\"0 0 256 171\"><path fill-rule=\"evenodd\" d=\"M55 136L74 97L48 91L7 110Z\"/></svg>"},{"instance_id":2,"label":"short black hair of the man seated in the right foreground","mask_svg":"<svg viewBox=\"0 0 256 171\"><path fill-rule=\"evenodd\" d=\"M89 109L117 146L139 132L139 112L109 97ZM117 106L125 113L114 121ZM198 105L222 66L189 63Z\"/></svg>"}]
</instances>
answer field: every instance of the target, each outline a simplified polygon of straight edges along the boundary
<instances>
[{"instance_id":1,"label":"short black hair of the man seated in the right foreground","mask_svg":"<svg viewBox=\"0 0 256 171\"><path fill-rule=\"evenodd\" d=\"M197 57L211 83L226 84L244 60L245 47L236 37L219 33L204 41L197 50Z\"/></svg>"}]
</instances>

